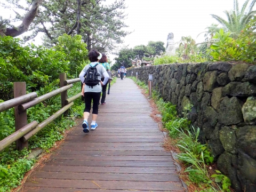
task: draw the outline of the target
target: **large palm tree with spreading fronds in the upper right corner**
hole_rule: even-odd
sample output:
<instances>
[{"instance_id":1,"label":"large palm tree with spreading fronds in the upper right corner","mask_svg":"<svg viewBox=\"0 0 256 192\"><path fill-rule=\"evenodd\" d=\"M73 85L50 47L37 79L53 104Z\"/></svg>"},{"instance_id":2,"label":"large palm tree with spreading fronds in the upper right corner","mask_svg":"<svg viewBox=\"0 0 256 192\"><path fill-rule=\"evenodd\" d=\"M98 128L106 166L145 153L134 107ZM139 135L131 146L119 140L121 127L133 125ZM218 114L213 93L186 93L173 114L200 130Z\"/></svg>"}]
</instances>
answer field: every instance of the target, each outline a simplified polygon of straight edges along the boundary
<instances>
[{"instance_id":1,"label":"large palm tree with spreading fronds in the upper right corner","mask_svg":"<svg viewBox=\"0 0 256 192\"><path fill-rule=\"evenodd\" d=\"M253 18L256 11L253 11L253 6L256 3L256 0L252 0L249 5L250 0L246 0L242 6L242 9L239 10L238 0L234 0L234 8L230 11L224 11L227 15L228 20L219 17L218 15L211 14L214 19L219 21L225 31L230 31L231 36L237 37L241 30L243 30L246 24ZM249 5L249 7L248 7ZM211 27L211 26L210 26Z\"/></svg>"}]
</instances>

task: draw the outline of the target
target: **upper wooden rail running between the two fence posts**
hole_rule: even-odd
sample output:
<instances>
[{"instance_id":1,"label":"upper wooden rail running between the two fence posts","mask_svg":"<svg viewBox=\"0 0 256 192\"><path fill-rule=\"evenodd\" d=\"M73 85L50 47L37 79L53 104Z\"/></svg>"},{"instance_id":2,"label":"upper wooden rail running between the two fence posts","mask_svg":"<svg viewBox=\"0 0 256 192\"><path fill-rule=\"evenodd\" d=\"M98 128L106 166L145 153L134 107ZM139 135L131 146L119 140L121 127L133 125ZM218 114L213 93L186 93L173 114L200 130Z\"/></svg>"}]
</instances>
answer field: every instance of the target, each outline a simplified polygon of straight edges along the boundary
<instances>
[{"instance_id":1,"label":"upper wooden rail running between the two fence posts","mask_svg":"<svg viewBox=\"0 0 256 192\"><path fill-rule=\"evenodd\" d=\"M36 99L33 99L32 101L29 101L29 102L23 103L22 105L19 105L18 109L19 109L19 111L25 111L26 109L33 107L33 106L37 105L38 103L41 103L42 101L53 97L54 95L57 95L63 91L66 91L66 90L70 89L71 87L73 87L73 84L63 86L60 89L54 90L50 93L46 93Z\"/></svg>"}]
</instances>

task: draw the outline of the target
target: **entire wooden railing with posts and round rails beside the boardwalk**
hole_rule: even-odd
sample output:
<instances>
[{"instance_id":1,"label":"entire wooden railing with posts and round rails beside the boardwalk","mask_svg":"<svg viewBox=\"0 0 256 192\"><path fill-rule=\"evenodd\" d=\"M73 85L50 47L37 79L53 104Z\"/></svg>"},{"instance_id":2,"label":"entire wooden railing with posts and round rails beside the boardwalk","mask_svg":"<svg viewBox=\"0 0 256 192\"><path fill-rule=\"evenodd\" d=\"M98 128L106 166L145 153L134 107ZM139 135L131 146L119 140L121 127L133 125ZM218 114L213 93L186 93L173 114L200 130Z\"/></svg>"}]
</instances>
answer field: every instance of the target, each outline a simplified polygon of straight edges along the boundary
<instances>
[{"instance_id":1,"label":"entire wooden railing with posts and round rails beside the boardwalk","mask_svg":"<svg viewBox=\"0 0 256 192\"><path fill-rule=\"evenodd\" d=\"M74 105L74 100L81 97L81 93L68 98L67 90L73 87L72 83L79 82L79 78L67 80L66 73L60 74L60 89L54 90L50 93L46 93L40 97L37 97L37 93L26 94L26 83L25 82L14 82L13 94L14 99L0 103L0 113L7 109L14 107L15 116L15 132L0 141L0 151L10 146L16 141L16 147L18 150L28 148L28 139L35 135L37 132L42 130L44 127L49 125L54 119L62 114L67 114L68 109ZM54 95L61 94L61 109L54 113L49 118L41 123L33 121L27 124L27 109L37 105L53 97Z\"/></svg>"}]
</instances>

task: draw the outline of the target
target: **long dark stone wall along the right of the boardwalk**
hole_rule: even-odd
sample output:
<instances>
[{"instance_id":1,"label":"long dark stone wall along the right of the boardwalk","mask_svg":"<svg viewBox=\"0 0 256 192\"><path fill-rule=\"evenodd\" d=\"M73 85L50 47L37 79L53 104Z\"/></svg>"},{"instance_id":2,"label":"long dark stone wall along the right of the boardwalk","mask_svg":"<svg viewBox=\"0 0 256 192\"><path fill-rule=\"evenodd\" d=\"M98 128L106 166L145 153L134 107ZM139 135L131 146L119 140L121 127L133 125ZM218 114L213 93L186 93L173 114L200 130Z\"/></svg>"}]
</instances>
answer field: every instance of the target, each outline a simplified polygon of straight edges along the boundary
<instances>
[{"instance_id":1,"label":"long dark stone wall along the right of the boardwalk","mask_svg":"<svg viewBox=\"0 0 256 192\"><path fill-rule=\"evenodd\" d=\"M227 62L170 64L127 71L138 72L165 101L177 105L180 116L192 104L188 118L201 129L218 164L236 191L256 191L256 65Z\"/></svg>"}]
</instances>

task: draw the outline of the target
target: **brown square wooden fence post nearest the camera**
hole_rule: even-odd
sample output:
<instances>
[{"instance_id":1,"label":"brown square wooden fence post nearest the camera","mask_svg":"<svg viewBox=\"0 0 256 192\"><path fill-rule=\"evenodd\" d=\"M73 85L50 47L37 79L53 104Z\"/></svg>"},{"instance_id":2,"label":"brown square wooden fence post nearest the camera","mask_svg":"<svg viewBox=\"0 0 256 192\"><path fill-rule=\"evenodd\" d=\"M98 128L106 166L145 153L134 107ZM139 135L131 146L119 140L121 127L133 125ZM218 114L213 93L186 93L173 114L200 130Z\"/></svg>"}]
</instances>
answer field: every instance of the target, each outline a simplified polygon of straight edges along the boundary
<instances>
[{"instance_id":1,"label":"brown square wooden fence post nearest the camera","mask_svg":"<svg viewBox=\"0 0 256 192\"><path fill-rule=\"evenodd\" d=\"M13 96L14 98L20 97L26 94L26 83L25 82L14 82L13 84ZM23 126L27 125L27 110L19 112L18 106L14 107L15 116L15 131L18 131ZM16 141L16 148L22 150L28 149L28 141L22 142L21 139Z\"/></svg>"}]
</instances>

